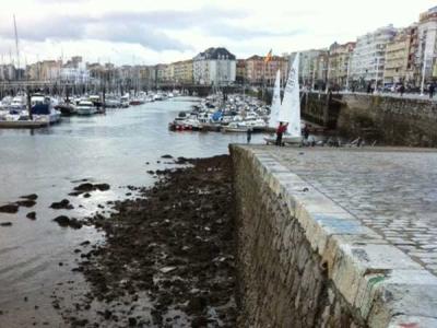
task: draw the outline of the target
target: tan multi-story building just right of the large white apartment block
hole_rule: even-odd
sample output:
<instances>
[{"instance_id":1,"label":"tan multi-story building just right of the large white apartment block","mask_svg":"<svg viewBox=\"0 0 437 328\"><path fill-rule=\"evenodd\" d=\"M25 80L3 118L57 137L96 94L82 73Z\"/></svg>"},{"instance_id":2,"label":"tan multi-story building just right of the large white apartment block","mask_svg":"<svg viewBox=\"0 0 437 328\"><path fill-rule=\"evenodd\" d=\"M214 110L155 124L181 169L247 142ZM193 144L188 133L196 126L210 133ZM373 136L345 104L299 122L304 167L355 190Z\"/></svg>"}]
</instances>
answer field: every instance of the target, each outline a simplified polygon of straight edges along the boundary
<instances>
[{"instance_id":1,"label":"tan multi-story building just right of the large white apartment block","mask_svg":"<svg viewBox=\"0 0 437 328\"><path fill-rule=\"evenodd\" d=\"M387 44L383 83L415 84L415 48L417 27L415 25L402 28Z\"/></svg>"}]
</instances>

